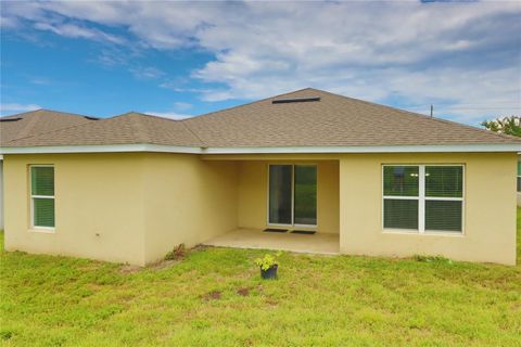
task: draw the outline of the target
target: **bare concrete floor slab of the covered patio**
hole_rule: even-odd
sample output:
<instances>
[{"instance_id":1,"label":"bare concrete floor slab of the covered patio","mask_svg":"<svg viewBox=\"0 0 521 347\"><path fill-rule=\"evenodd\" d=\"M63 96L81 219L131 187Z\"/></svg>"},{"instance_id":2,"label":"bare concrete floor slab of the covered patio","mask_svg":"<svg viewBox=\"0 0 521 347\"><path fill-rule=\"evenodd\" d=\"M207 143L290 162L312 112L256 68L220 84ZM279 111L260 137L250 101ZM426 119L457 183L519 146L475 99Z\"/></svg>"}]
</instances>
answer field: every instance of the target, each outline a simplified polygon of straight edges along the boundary
<instances>
[{"instance_id":1,"label":"bare concrete floor slab of the covered patio","mask_svg":"<svg viewBox=\"0 0 521 347\"><path fill-rule=\"evenodd\" d=\"M310 254L340 254L339 234L313 235L238 229L204 242L206 246L277 249Z\"/></svg>"}]
</instances>

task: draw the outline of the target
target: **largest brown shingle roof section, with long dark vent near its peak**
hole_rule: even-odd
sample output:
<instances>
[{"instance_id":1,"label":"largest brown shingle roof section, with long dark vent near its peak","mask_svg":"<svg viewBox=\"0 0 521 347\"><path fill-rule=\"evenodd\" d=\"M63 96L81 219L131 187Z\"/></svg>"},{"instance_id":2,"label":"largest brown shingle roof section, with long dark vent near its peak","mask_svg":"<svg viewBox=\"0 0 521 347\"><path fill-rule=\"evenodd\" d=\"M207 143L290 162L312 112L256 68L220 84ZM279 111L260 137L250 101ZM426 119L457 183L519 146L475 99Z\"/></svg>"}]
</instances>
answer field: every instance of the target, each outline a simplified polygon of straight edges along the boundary
<instances>
[{"instance_id":1,"label":"largest brown shingle roof section, with long dark vent near its peak","mask_svg":"<svg viewBox=\"0 0 521 347\"><path fill-rule=\"evenodd\" d=\"M209 147L521 143L518 138L312 88L185 123Z\"/></svg>"}]
</instances>

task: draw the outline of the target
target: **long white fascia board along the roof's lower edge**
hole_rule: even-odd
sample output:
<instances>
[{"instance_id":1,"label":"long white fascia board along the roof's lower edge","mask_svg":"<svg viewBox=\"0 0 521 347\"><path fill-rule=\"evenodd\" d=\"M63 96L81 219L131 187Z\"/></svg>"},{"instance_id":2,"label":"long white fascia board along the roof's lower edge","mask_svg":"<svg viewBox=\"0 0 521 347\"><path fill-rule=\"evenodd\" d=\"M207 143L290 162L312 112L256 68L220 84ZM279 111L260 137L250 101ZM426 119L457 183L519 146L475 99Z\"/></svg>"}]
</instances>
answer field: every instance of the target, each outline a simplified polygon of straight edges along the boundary
<instances>
[{"instance_id":1,"label":"long white fascia board along the roof's lower edge","mask_svg":"<svg viewBox=\"0 0 521 347\"><path fill-rule=\"evenodd\" d=\"M187 154L294 154L294 153L465 153L465 152L521 152L521 144L439 144L439 145L368 145L368 146L288 146L288 147L196 147L161 144L106 144L33 147L0 147L5 154L43 153L124 153L160 152Z\"/></svg>"}]
</instances>

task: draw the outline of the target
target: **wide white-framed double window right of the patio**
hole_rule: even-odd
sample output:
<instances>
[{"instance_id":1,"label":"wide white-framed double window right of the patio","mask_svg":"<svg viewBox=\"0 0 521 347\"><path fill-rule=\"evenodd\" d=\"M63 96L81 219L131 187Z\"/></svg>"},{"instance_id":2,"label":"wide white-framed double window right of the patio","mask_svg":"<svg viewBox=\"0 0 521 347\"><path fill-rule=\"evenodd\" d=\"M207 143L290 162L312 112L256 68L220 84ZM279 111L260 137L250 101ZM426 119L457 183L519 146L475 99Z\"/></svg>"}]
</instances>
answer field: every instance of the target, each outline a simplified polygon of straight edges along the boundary
<instances>
[{"instance_id":1,"label":"wide white-framed double window right of the patio","mask_svg":"<svg viewBox=\"0 0 521 347\"><path fill-rule=\"evenodd\" d=\"M462 233L463 165L383 165L383 229Z\"/></svg>"}]
</instances>

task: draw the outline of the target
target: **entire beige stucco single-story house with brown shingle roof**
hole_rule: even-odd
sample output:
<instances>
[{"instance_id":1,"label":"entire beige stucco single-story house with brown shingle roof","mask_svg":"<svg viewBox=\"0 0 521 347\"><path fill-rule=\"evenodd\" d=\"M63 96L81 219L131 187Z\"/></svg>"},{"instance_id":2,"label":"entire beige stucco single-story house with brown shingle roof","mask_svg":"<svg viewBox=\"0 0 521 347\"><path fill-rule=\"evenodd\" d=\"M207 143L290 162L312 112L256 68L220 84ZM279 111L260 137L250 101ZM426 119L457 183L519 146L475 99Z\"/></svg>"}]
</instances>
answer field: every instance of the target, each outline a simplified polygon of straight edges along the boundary
<instances>
[{"instance_id":1,"label":"entire beige stucco single-story house with brown shingle roof","mask_svg":"<svg viewBox=\"0 0 521 347\"><path fill-rule=\"evenodd\" d=\"M204 243L516 264L513 137L310 88L185 120L37 111L0 127L8 250L142 266Z\"/></svg>"}]
</instances>

